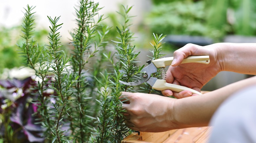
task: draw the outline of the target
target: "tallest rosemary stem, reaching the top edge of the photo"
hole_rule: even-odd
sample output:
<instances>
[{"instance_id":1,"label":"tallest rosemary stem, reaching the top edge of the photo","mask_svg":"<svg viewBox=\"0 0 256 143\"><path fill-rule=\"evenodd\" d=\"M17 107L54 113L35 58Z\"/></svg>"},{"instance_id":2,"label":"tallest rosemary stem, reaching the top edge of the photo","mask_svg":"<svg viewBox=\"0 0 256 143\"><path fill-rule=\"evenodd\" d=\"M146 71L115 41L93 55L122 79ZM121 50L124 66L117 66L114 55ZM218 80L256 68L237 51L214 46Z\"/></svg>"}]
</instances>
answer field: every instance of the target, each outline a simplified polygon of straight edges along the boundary
<instances>
[{"instance_id":1,"label":"tallest rosemary stem, reaching the top edge of the photo","mask_svg":"<svg viewBox=\"0 0 256 143\"><path fill-rule=\"evenodd\" d=\"M74 46L72 66L74 73L78 75L75 86L77 92L73 95L74 108L72 110L71 129L72 135L79 142L88 140L93 128L93 119L95 119L92 117L94 114L92 112L93 101L91 100L94 94L86 90L89 89L89 82L86 80L86 71L89 69L85 65L96 55L99 47L105 45L104 37L109 28L103 26L102 32L96 30L99 23L104 20L103 15L98 16L100 9L98 3L91 0L80 0L80 5L75 8L77 28L71 33L73 37L71 43ZM96 18L96 16L98 17ZM99 38L98 42L95 40L96 35Z\"/></svg>"}]
</instances>

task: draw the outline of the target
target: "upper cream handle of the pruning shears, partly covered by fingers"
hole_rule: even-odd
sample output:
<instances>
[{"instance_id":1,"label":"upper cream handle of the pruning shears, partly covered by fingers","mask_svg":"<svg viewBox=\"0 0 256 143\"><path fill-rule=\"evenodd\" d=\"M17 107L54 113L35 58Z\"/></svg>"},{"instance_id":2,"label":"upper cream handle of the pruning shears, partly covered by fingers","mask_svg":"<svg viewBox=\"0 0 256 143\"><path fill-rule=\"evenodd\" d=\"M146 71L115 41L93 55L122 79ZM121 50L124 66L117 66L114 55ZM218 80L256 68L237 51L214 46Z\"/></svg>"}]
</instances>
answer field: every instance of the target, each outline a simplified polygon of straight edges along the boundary
<instances>
[{"instance_id":1,"label":"upper cream handle of the pruning shears, partly covered by fingers","mask_svg":"<svg viewBox=\"0 0 256 143\"><path fill-rule=\"evenodd\" d=\"M154 63L154 65L157 68L165 68L166 66L171 65L172 61L173 61L173 57L165 57L165 58L153 60L152 63ZM210 59L209 59L209 56L188 56L183 59L181 64L185 64L185 63L209 64Z\"/></svg>"}]
</instances>

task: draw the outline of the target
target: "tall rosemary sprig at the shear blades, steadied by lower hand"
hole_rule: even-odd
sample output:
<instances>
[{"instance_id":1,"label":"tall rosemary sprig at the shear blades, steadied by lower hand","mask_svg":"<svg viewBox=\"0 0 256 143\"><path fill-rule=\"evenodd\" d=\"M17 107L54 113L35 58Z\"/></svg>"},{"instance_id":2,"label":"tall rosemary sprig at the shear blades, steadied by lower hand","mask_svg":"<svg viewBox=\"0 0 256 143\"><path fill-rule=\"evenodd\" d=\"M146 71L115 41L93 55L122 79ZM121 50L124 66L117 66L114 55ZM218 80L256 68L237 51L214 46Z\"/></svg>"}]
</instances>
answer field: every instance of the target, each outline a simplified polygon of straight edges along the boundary
<instances>
[{"instance_id":1,"label":"tall rosemary sprig at the shear blades, steadied by lower hand","mask_svg":"<svg viewBox=\"0 0 256 143\"><path fill-rule=\"evenodd\" d=\"M130 130L126 127L124 124L124 116L123 112L124 110L121 108L122 104L119 100L119 97L121 95L122 91L130 91L130 92L136 92L133 90L132 86L125 86L121 85L119 83L119 80L124 80L126 82L132 82L137 80L136 74L140 72L140 70L143 67L137 67L135 64L139 63L138 61L138 55L139 53L135 53L134 49L135 46L131 45L131 39L133 36L133 33L129 30L129 27L132 24L129 24L130 16L128 16L129 11L132 7L128 6L122 6L124 12L118 12L122 18L124 23L122 24L122 28L117 27L117 32L119 34L119 37L117 37L118 41L113 41L117 43L115 45L117 49L117 54L115 55L117 59L119 59L120 62L115 64L114 67L114 74L112 76L112 84L113 84L113 104L115 105L113 108L113 114L115 115L113 117L114 123L113 124L113 131L116 142L120 142L123 139L123 136ZM119 72L119 70L122 70L122 73ZM127 76L123 76L123 74Z\"/></svg>"}]
</instances>

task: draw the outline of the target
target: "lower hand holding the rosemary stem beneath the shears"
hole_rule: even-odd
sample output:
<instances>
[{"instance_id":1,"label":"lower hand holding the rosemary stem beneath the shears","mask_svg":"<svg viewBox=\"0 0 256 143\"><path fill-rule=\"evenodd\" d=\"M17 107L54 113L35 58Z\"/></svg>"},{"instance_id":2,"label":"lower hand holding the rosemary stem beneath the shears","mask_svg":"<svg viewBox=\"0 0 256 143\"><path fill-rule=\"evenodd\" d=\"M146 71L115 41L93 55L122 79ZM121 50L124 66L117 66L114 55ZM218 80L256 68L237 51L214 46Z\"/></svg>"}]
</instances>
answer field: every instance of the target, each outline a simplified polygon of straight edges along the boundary
<instances>
[{"instance_id":1,"label":"lower hand holding the rosemary stem beneath the shears","mask_svg":"<svg viewBox=\"0 0 256 143\"><path fill-rule=\"evenodd\" d=\"M122 92L120 96L128 128L141 132L164 132L174 129L173 98L154 94Z\"/></svg>"}]
</instances>

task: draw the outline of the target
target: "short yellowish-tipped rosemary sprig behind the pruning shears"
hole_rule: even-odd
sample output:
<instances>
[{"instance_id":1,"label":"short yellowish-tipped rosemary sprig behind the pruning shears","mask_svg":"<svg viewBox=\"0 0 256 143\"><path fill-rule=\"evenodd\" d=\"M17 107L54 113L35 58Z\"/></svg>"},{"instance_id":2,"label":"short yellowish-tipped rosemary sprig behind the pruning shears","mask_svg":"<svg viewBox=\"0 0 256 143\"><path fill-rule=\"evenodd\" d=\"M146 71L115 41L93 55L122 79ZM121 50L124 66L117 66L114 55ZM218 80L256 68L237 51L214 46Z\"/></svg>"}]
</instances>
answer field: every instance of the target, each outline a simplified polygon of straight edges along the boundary
<instances>
[{"instance_id":1,"label":"short yellowish-tipped rosemary sprig behind the pruning shears","mask_svg":"<svg viewBox=\"0 0 256 143\"><path fill-rule=\"evenodd\" d=\"M153 56L149 56L150 58L152 58L152 60L159 59L160 57L165 55L165 54L160 54L160 52L162 51L162 45L164 44L164 43L161 43L161 41L164 39L165 36L166 35L162 36L162 34L157 35L157 34L153 33L152 39L154 40L154 43L153 44L150 43L150 44L154 47L154 51L150 51ZM165 69L158 68L158 71L155 73L152 73L151 76L152 77L160 77L161 72L163 72L162 70L165 70ZM159 93L158 91L153 89L149 84L147 84L147 83L145 83L145 84L146 84L146 87L140 87L140 88L142 88L147 93L152 93L152 92Z\"/></svg>"}]
</instances>

